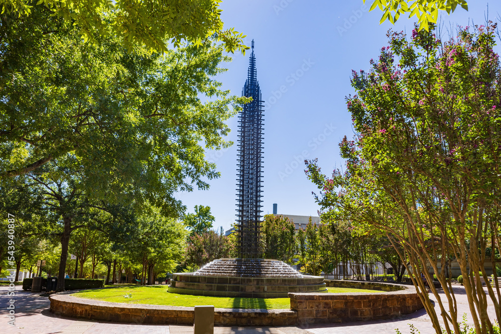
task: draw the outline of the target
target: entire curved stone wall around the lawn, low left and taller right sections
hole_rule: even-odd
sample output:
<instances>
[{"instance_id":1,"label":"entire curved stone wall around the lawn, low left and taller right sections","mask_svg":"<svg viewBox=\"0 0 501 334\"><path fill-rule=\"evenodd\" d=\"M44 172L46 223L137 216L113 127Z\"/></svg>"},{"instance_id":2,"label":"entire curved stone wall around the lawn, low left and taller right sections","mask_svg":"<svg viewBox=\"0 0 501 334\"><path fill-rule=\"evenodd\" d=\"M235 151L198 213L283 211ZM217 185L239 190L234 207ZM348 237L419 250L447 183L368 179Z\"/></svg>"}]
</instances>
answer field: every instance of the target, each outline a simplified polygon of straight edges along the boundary
<instances>
[{"instance_id":1,"label":"entire curved stone wall around the lawn, low left and taller right sections","mask_svg":"<svg viewBox=\"0 0 501 334\"><path fill-rule=\"evenodd\" d=\"M423 307L414 286L379 282L326 280L327 286L371 288L381 292L289 293L291 309L216 308L223 325L293 325L383 319ZM76 291L51 294L56 314L119 322L192 324L194 307L127 304L78 298Z\"/></svg>"}]
</instances>

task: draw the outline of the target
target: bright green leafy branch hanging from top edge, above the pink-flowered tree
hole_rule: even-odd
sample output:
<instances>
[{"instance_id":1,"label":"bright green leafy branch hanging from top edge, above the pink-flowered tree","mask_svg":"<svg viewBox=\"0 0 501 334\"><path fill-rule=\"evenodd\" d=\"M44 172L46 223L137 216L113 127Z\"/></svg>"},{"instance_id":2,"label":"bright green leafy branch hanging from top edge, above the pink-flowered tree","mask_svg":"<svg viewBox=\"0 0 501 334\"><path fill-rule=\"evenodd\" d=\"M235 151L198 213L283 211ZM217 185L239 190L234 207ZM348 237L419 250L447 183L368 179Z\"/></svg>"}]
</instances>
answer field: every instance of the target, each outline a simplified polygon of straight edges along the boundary
<instances>
[{"instance_id":1,"label":"bright green leafy branch hanging from top edge, above the pink-flowered tree","mask_svg":"<svg viewBox=\"0 0 501 334\"><path fill-rule=\"evenodd\" d=\"M454 12L457 5L468 10L466 0L374 0L369 11L376 8L383 11L380 24L386 20L395 23L401 14L409 13L409 18L416 16L418 19L419 30L428 30L430 23L437 22L440 11L450 14Z\"/></svg>"}]
</instances>

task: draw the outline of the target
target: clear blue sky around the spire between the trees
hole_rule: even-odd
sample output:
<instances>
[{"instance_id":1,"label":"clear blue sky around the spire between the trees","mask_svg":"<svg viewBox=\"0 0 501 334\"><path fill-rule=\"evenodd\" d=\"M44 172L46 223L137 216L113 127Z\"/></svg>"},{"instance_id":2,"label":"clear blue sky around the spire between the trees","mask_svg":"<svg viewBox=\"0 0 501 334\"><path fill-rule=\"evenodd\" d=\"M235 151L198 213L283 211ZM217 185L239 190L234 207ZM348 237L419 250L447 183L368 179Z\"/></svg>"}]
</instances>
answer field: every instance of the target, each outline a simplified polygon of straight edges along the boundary
<instances>
[{"instance_id":1,"label":"clear blue sky around the spire between the trees","mask_svg":"<svg viewBox=\"0 0 501 334\"><path fill-rule=\"evenodd\" d=\"M342 166L338 143L353 136L345 96L353 94L353 70L368 70L369 60L387 44L386 32L413 29L415 17L400 18L395 26L379 25L382 13L368 13L372 0L225 0L221 18L226 28L255 41L258 79L265 100L265 154L263 213L278 203L279 213L317 215L313 184L304 173L303 160L319 159L324 173ZM498 1L468 1L469 11L458 8L442 15L445 26L467 26L468 20L484 24L501 13ZM499 53L499 48L497 50ZM228 71L218 77L224 89L240 95L246 79L249 53L233 55ZM207 152L221 177L210 189L178 193L193 212L194 205L208 205L216 218L215 228L226 230L235 220L237 118L228 121L235 143L224 151Z\"/></svg>"}]
</instances>

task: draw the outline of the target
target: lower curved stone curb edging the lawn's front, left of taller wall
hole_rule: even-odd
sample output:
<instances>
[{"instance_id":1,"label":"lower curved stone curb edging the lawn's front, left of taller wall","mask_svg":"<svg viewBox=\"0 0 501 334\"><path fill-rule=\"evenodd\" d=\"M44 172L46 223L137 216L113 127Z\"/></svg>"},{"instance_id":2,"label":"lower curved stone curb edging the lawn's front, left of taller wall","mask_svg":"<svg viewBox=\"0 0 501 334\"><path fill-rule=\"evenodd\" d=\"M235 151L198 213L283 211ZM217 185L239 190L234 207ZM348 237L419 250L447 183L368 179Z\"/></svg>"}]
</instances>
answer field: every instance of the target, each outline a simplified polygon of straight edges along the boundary
<instances>
[{"instance_id":1,"label":"lower curved stone curb edging the lawn's front, left of taller wall","mask_svg":"<svg viewBox=\"0 0 501 334\"><path fill-rule=\"evenodd\" d=\"M51 312L117 322L193 324L194 307L93 300L72 296L75 292L78 291L51 294ZM292 325L297 320L298 313L290 309L216 308L214 312L214 323L224 325Z\"/></svg>"}]
</instances>

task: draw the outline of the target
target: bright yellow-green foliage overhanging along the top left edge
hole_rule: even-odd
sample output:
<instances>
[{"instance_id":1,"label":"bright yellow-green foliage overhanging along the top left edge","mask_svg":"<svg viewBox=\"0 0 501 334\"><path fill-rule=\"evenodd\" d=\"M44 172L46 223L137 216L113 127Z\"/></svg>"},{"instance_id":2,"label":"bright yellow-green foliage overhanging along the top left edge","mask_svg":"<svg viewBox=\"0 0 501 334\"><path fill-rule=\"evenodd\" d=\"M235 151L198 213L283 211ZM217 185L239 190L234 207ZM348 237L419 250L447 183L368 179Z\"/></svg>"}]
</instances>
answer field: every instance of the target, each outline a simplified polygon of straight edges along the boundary
<instances>
[{"instance_id":1,"label":"bright yellow-green foliage overhanging along the top left edge","mask_svg":"<svg viewBox=\"0 0 501 334\"><path fill-rule=\"evenodd\" d=\"M33 19L33 12L44 11L78 27L85 41L97 42L102 36L118 36L128 49L146 46L167 51L172 42L195 44L212 34L224 42L226 50L248 49L245 36L233 29L223 31L220 1L135 1L126 0L2 0L2 15L15 20ZM5 22L5 21L3 21Z\"/></svg>"}]
</instances>

